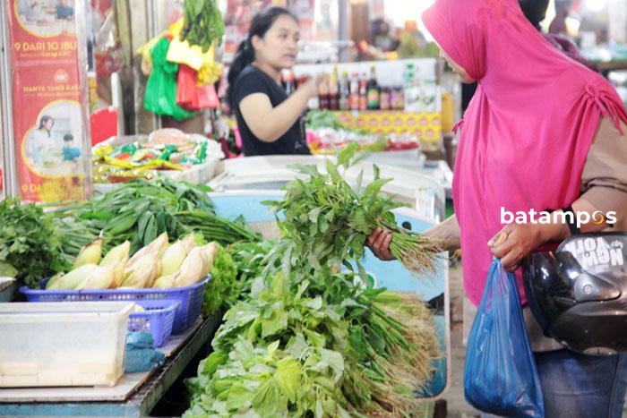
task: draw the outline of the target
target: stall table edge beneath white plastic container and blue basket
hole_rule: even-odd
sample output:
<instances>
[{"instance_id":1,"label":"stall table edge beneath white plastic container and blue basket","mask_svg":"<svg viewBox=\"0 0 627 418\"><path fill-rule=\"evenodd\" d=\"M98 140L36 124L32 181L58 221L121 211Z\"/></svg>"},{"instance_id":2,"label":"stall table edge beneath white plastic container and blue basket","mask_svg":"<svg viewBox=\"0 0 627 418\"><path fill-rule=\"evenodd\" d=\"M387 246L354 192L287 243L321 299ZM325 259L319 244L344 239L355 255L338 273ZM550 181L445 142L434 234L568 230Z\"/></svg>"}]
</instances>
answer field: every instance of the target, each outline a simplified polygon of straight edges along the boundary
<instances>
[{"instance_id":1,"label":"stall table edge beneath white plastic container and blue basket","mask_svg":"<svg viewBox=\"0 0 627 418\"><path fill-rule=\"evenodd\" d=\"M203 346L221 321L215 314L159 348L166 363L157 370L130 373L113 388L0 389L0 415L146 416Z\"/></svg>"}]
</instances>

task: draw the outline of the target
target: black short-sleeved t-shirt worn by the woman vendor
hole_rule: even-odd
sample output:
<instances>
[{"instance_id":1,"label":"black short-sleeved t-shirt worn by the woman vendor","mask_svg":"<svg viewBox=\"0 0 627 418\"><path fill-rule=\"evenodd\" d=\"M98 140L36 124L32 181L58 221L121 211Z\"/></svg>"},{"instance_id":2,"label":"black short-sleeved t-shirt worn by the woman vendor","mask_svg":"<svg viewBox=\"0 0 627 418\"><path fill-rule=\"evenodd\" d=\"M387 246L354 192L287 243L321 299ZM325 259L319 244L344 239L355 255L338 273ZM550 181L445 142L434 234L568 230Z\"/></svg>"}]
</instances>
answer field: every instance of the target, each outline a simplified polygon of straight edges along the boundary
<instances>
[{"instance_id":1,"label":"black short-sleeved t-shirt worn by the woman vendor","mask_svg":"<svg viewBox=\"0 0 627 418\"><path fill-rule=\"evenodd\" d=\"M233 99L235 108L233 109L237 119L239 134L242 136L244 155L247 157L277 154L311 154L305 142L305 129L302 119L296 121L288 132L285 132L279 140L274 142L264 142L254 136L248 125L245 123L239 104L246 96L253 93L263 93L270 98L272 107L277 107L283 103L288 95L279 84L272 80L271 76L263 73L262 70L253 65L248 65L237 75L233 88Z\"/></svg>"}]
</instances>

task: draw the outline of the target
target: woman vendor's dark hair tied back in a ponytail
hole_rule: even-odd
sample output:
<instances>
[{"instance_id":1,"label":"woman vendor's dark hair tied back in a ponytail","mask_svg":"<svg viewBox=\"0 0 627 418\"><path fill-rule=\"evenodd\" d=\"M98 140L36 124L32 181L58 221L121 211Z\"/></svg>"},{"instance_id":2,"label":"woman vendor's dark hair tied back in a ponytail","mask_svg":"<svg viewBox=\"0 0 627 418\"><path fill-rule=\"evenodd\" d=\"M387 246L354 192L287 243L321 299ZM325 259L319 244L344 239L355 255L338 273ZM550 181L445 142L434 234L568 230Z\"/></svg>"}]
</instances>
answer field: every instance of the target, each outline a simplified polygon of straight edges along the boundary
<instances>
[{"instance_id":1,"label":"woman vendor's dark hair tied back in a ponytail","mask_svg":"<svg viewBox=\"0 0 627 418\"><path fill-rule=\"evenodd\" d=\"M231 107L236 107L236 103L233 103L233 86L235 85L237 76L245 69L246 65L254 61L254 49L251 39L255 35L259 38L263 38L274 22L282 15L287 15L295 21L298 21L296 16L289 12L288 9L276 6L267 7L254 15L248 34L242 43L239 44L239 47L237 47L236 55L233 57L233 63L228 69L227 98Z\"/></svg>"}]
</instances>

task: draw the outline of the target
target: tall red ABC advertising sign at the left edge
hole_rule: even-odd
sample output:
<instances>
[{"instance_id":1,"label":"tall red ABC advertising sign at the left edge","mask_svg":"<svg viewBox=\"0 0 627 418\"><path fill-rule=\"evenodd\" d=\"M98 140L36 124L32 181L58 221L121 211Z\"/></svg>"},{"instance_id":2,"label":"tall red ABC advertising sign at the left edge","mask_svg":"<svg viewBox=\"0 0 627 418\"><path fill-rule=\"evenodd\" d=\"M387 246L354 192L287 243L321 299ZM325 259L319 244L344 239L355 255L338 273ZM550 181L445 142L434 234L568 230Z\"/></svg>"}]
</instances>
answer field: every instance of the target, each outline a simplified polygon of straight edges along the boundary
<instances>
[{"instance_id":1,"label":"tall red ABC advertising sign at the left edge","mask_svg":"<svg viewBox=\"0 0 627 418\"><path fill-rule=\"evenodd\" d=\"M9 1L13 132L23 200L87 197L74 1Z\"/></svg>"}]
</instances>

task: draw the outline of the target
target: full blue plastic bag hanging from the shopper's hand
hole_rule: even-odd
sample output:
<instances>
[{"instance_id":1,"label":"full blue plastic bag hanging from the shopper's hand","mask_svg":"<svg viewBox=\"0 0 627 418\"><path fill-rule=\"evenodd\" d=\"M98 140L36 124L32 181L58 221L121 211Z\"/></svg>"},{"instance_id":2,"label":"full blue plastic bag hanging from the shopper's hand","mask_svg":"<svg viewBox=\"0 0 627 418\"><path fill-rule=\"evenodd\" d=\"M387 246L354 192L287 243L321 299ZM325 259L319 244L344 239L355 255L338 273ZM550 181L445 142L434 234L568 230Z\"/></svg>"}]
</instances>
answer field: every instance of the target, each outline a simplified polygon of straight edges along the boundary
<instances>
[{"instance_id":1,"label":"full blue plastic bag hanging from the shopper's hand","mask_svg":"<svg viewBox=\"0 0 627 418\"><path fill-rule=\"evenodd\" d=\"M516 277L498 259L490 266L468 337L464 395L470 405L485 413L545 416Z\"/></svg>"}]
</instances>

